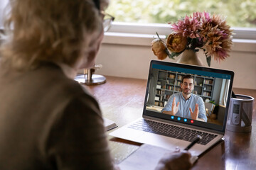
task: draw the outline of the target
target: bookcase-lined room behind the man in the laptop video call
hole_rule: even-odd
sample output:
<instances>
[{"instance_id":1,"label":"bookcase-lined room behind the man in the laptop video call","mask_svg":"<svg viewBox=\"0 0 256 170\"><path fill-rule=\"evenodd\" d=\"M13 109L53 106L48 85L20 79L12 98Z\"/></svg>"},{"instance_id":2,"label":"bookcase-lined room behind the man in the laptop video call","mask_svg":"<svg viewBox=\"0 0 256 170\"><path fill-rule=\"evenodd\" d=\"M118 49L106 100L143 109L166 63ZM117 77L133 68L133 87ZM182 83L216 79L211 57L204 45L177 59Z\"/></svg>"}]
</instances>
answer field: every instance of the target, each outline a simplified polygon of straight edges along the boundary
<instances>
[{"instance_id":1,"label":"bookcase-lined room behind the man in the laptop video call","mask_svg":"<svg viewBox=\"0 0 256 170\"><path fill-rule=\"evenodd\" d=\"M164 114L162 110L171 96L182 93L181 79L187 74L190 73L153 68L149 79L146 110ZM192 94L203 99L204 107L201 109L205 110L202 113L206 115L206 122L223 125L230 79L225 75L215 77L203 71L190 75L194 79Z\"/></svg>"}]
</instances>

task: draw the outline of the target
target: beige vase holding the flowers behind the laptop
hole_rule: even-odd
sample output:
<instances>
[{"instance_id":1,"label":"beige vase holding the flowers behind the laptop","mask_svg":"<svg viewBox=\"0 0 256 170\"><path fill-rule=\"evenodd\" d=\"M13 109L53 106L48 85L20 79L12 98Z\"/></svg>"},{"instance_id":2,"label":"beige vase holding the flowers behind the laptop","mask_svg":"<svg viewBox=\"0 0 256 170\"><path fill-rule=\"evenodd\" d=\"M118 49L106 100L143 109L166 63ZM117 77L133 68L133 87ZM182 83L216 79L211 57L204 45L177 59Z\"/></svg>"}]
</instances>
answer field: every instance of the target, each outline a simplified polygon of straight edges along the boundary
<instances>
[{"instance_id":1,"label":"beige vase holding the flowers behind the laptop","mask_svg":"<svg viewBox=\"0 0 256 170\"><path fill-rule=\"evenodd\" d=\"M203 66L203 62L193 50L185 50L177 63Z\"/></svg>"}]
</instances>

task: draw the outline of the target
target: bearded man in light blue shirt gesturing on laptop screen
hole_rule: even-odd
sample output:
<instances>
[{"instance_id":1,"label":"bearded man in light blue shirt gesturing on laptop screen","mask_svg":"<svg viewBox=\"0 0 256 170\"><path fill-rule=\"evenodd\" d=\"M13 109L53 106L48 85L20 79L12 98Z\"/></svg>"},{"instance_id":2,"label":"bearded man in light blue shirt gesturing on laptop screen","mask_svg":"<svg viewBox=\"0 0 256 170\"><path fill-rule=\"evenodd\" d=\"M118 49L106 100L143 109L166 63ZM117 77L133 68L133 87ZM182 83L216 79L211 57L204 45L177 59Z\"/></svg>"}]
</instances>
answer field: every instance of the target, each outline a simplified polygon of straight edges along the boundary
<instances>
[{"instance_id":1,"label":"bearded man in light blue shirt gesturing on laptop screen","mask_svg":"<svg viewBox=\"0 0 256 170\"><path fill-rule=\"evenodd\" d=\"M171 95L161 113L207 122L203 98L192 94L193 89L193 77L190 74L182 77L182 92Z\"/></svg>"}]
</instances>

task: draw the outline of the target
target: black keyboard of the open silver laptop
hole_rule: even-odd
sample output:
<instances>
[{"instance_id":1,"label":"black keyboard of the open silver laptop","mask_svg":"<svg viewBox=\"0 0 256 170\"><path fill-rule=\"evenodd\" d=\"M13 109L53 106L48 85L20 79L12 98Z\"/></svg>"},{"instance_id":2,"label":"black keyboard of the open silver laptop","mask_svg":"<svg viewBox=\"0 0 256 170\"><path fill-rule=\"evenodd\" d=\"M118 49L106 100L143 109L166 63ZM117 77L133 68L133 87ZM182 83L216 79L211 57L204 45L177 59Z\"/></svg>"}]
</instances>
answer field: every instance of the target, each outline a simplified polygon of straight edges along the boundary
<instances>
[{"instance_id":1,"label":"black keyboard of the open silver laptop","mask_svg":"<svg viewBox=\"0 0 256 170\"><path fill-rule=\"evenodd\" d=\"M138 122L132 125L129 125L128 128L132 128L135 130L142 130L145 132L151 132L158 135L164 135L167 137L173 137L178 140L185 140L188 142L192 142L197 135L201 135L203 139L198 141L198 144L201 144L201 145L208 144L208 142L210 142L217 136L207 132L200 132L197 130L181 128L175 125L158 123L151 120L139 120Z\"/></svg>"}]
</instances>

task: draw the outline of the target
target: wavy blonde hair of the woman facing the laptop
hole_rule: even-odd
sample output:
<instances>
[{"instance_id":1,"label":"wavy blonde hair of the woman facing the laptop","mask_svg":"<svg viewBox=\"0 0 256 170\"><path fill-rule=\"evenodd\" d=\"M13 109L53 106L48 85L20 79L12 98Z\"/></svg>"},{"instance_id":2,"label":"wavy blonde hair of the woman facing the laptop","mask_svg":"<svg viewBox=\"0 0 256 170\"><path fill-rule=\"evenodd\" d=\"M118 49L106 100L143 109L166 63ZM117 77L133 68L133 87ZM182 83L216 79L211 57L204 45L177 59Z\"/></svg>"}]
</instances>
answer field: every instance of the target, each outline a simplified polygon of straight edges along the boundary
<instances>
[{"instance_id":1,"label":"wavy blonde hair of the woman facing the laptop","mask_svg":"<svg viewBox=\"0 0 256 170\"><path fill-rule=\"evenodd\" d=\"M102 29L92 0L10 0L1 62L30 69L41 62L71 67Z\"/></svg>"}]
</instances>

